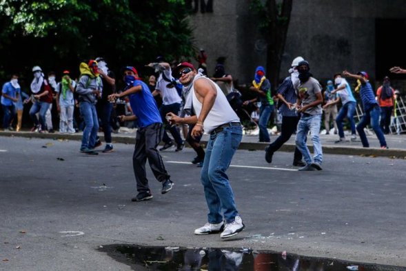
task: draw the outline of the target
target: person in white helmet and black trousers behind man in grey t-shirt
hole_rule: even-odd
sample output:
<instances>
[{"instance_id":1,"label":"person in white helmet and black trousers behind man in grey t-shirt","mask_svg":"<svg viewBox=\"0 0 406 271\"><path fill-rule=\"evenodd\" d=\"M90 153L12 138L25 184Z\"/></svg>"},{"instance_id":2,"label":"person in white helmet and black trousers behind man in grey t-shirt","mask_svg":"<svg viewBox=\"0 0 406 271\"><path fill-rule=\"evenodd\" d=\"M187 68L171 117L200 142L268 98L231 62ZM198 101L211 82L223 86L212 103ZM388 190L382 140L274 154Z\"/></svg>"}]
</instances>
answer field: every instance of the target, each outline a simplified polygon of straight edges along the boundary
<instances>
[{"instance_id":1,"label":"person in white helmet and black trousers behind man in grey t-shirt","mask_svg":"<svg viewBox=\"0 0 406 271\"><path fill-rule=\"evenodd\" d=\"M265 161L272 163L272 156L281 146L292 137L292 134L296 131L296 126L300 119L298 112L295 110L295 104L297 100L296 91L294 90L294 83L298 82L298 70L297 66L300 61L303 61L303 57L296 57L292 61L291 68L289 69L290 76L286 77L277 90L278 97L278 110L282 114L282 126L281 135L270 145L265 148ZM304 166L302 161L302 154L295 148L294 150L294 166Z\"/></svg>"}]
</instances>

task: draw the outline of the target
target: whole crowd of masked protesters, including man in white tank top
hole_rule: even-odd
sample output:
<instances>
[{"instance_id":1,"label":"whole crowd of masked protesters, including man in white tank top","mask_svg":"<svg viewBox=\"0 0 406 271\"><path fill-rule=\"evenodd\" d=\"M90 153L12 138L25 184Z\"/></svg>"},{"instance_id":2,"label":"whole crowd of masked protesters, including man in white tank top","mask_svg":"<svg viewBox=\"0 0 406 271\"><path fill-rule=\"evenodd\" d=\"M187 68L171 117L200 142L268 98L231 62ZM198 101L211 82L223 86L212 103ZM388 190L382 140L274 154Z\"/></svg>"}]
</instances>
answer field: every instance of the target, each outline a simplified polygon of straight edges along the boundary
<instances>
[{"instance_id":1,"label":"whole crowd of masked protesters, including man in white tank top","mask_svg":"<svg viewBox=\"0 0 406 271\"><path fill-rule=\"evenodd\" d=\"M189 62L171 66L163 57L158 57L147 65L154 70L148 84L139 77L136 68L125 66L120 71L124 88L119 91L115 74L102 57L80 63L80 76L76 80L70 77L68 70L63 71L58 83L54 72L48 73L45 79L43 70L34 66L30 96L21 91L18 74L12 74L10 81L3 85L3 129L13 130L12 121L17 115L16 130L21 130L23 104L32 103L32 131L53 132L51 107L55 101L59 132L74 133L80 127L83 130L80 152L96 155L99 152L95 148L102 144L97 135L100 128L105 139L103 152L107 153L113 150L112 125L117 120L134 122L137 130L132 161L138 194L132 201L153 197L145 171L147 159L154 177L162 184L161 194L172 190L174 182L159 151L176 144L175 151L179 152L187 141L196 152L192 163L201 167L201 183L209 209L207 223L197 228L194 234L220 232L221 238L232 237L245 228L226 174L243 137L241 119L237 114L241 106L256 103L259 141L270 143L265 148L268 163L272 163L274 152L296 132L293 165L300 167L299 171L322 170L323 148L319 134L323 111L326 133L330 132L330 117L333 119L334 133L338 133L336 143L346 140L343 120L347 118L352 140L356 139L358 132L363 147L369 147L364 128L371 125L381 148L387 149L385 134L389 133L390 116L399 94L390 86L389 77L385 77L383 86L374 94L367 72L353 74L344 70L334 75L334 81L327 81L323 92L321 83L310 72L309 63L303 57L296 57L290 74L275 94L272 94L271 83L265 77L265 69L258 66L249 87L254 99L238 102L241 92L234 87L231 74L225 72L225 59L217 59L213 77L207 77L205 57L201 50L199 69ZM406 73L406 70L394 67L391 72ZM354 121L356 99L345 78L358 82L355 91L361 97L363 117L357 125ZM127 103L128 112L116 117L114 105L118 101ZM282 116L281 134L271 143L267 127L276 101ZM77 111L81 123L75 121L74 112ZM205 150L200 144L203 133L210 135ZM307 147L307 137L313 142L313 156ZM163 146L158 149L161 141Z\"/></svg>"}]
</instances>

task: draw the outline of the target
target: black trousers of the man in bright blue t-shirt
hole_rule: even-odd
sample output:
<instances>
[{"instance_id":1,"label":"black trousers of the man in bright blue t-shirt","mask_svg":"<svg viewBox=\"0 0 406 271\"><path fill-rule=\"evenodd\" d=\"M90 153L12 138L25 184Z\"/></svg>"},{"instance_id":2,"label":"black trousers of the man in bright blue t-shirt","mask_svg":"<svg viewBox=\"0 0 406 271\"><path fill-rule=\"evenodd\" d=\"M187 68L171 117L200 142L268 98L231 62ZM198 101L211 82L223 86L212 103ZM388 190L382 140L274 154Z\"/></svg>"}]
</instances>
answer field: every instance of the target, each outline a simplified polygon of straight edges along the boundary
<instances>
[{"instance_id":1,"label":"black trousers of the man in bright blue t-shirt","mask_svg":"<svg viewBox=\"0 0 406 271\"><path fill-rule=\"evenodd\" d=\"M147 159L152 173L154 173L158 181L163 182L170 178L170 175L165 170L161 154L156 149L162 140L162 134L162 123L154 123L144 128L138 128L136 131L132 168L134 168L136 190L138 192L150 192L147 172L145 171Z\"/></svg>"}]
</instances>

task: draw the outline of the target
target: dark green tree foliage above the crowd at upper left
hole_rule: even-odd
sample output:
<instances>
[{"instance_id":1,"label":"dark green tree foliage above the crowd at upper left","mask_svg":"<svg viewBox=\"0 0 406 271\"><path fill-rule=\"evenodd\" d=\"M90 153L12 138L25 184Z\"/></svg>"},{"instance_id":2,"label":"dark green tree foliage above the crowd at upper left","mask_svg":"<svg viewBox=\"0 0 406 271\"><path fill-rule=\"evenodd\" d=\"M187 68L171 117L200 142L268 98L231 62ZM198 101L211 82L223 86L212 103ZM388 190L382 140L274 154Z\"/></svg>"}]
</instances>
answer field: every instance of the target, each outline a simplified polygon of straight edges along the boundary
<instances>
[{"instance_id":1,"label":"dark green tree foliage above the crowd at upper left","mask_svg":"<svg viewBox=\"0 0 406 271\"><path fill-rule=\"evenodd\" d=\"M183 0L0 0L0 23L0 72L77 72L100 56L117 70L194 55Z\"/></svg>"}]
</instances>

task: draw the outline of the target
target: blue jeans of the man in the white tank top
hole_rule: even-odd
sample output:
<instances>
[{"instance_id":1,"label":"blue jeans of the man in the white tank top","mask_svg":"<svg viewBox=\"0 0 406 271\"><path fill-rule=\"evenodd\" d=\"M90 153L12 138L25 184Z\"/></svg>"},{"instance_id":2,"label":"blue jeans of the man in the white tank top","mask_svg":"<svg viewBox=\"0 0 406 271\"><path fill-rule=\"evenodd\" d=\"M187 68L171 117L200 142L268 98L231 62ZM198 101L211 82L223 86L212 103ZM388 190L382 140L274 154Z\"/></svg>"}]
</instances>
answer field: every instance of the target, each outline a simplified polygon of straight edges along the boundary
<instances>
[{"instance_id":1,"label":"blue jeans of the man in the white tank top","mask_svg":"<svg viewBox=\"0 0 406 271\"><path fill-rule=\"evenodd\" d=\"M230 166L232 157L243 138L241 126L230 126L222 132L211 134L207 142L205 160L201 169L205 199L209 214L209 223L221 223L223 216L226 223L234 221L238 216L234 193L225 171Z\"/></svg>"}]
</instances>

